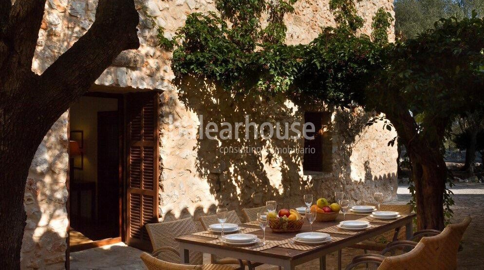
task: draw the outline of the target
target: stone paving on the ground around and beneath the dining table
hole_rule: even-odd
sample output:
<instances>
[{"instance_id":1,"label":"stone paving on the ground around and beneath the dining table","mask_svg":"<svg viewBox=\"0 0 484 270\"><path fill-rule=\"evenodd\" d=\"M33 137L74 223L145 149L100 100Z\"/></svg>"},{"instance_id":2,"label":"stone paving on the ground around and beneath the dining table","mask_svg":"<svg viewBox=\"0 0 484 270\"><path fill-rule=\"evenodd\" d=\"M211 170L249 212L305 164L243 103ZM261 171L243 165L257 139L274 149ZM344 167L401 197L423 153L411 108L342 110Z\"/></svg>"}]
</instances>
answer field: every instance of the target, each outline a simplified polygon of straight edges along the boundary
<instances>
[{"instance_id":1,"label":"stone paving on the ground around and beneath the dining table","mask_svg":"<svg viewBox=\"0 0 484 270\"><path fill-rule=\"evenodd\" d=\"M452 188L454 192L455 206L453 207L453 221L460 221L465 216L471 216L472 222L467 229L462 246L463 251L458 253L459 268L462 270L484 269L484 184L480 183L457 183ZM398 187L398 198L391 203L406 203L410 199L407 186ZM139 258L141 251L128 247L123 243L71 253L71 269L144 269ZM343 266L354 255L362 254L362 250L344 249ZM336 269L336 252L327 255L327 269ZM209 256L204 256L205 262ZM277 269L277 267L261 266L257 269ZM300 265L296 269L319 269L318 260Z\"/></svg>"}]
</instances>

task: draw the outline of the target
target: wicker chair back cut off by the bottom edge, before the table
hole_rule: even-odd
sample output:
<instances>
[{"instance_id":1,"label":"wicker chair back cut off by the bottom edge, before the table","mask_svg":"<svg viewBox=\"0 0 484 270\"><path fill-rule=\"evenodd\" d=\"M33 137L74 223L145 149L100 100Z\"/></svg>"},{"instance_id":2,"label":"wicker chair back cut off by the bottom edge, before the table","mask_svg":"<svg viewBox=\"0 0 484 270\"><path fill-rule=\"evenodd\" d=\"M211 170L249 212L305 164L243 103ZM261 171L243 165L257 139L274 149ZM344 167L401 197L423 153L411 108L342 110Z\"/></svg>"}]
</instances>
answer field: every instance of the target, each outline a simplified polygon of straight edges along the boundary
<instances>
[{"instance_id":1,"label":"wicker chair back cut off by the bottom edge, before the table","mask_svg":"<svg viewBox=\"0 0 484 270\"><path fill-rule=\"evenodd\" d=\"M235 268L220 264L187 265L176 264L157 259L146 252L141 253L141 260L148 270L234 270Z\"/></svg>"}]
</instances>

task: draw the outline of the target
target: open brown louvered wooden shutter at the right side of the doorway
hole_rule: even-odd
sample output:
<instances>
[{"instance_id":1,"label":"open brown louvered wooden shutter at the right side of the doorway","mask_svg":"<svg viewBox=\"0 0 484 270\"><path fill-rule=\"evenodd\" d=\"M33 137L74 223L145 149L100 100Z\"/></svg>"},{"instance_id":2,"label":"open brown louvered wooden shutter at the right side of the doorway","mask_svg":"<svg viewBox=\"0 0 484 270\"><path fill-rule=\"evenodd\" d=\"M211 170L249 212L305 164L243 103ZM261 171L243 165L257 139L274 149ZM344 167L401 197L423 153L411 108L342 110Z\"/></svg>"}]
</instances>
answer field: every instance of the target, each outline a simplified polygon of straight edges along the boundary
<instances>
[{"instance_id":1,"label":"open brown louvered wooden shutter at the right side of the doorway","mask_svg":"<svg viewBox=\"0 0 484 270\"><path fill-rule=\"evenodd\" d=\"M128 245L150 250L145 225L158 221L157 93L134 93L127 108L127 229Z\"/></svg>"}]
</instances>

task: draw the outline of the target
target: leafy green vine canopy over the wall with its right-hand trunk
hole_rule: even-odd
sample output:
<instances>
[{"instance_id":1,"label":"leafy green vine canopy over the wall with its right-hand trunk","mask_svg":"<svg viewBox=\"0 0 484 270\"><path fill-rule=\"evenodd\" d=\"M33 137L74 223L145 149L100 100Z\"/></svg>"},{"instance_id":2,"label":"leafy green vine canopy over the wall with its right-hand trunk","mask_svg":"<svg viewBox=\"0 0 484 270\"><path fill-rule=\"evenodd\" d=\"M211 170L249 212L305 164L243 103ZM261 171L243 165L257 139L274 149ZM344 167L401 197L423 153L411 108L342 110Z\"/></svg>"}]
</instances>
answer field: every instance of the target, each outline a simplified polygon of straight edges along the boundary
<instances>
[{"instance_id":1,"label":"leafy green vine canopy over the wall with its right-hand trunk","mask_svg":"<svg viewBox=\"0 0 484 270\"><path fill-rule=\"evenodd\" d=\"M234 94L284 92L385 113L409 153L419 227L442 229L442 205L448 216L452 204L443 139L459 111L482 107L483 19L476 13L443 18L415 38L389 43L391 15L384 9L373 16L368 36L358 31L363 19L354 1L331 0L337 27L322 27L309 44L286 45L286 28L279 24L293 3L218 0L220 16L189 15L174 39L175 76L206 77ZM261 13L279 6L285 8L262 28ZM274 18L279 26L271 28Z\"/></svg>"}]
</instances>

